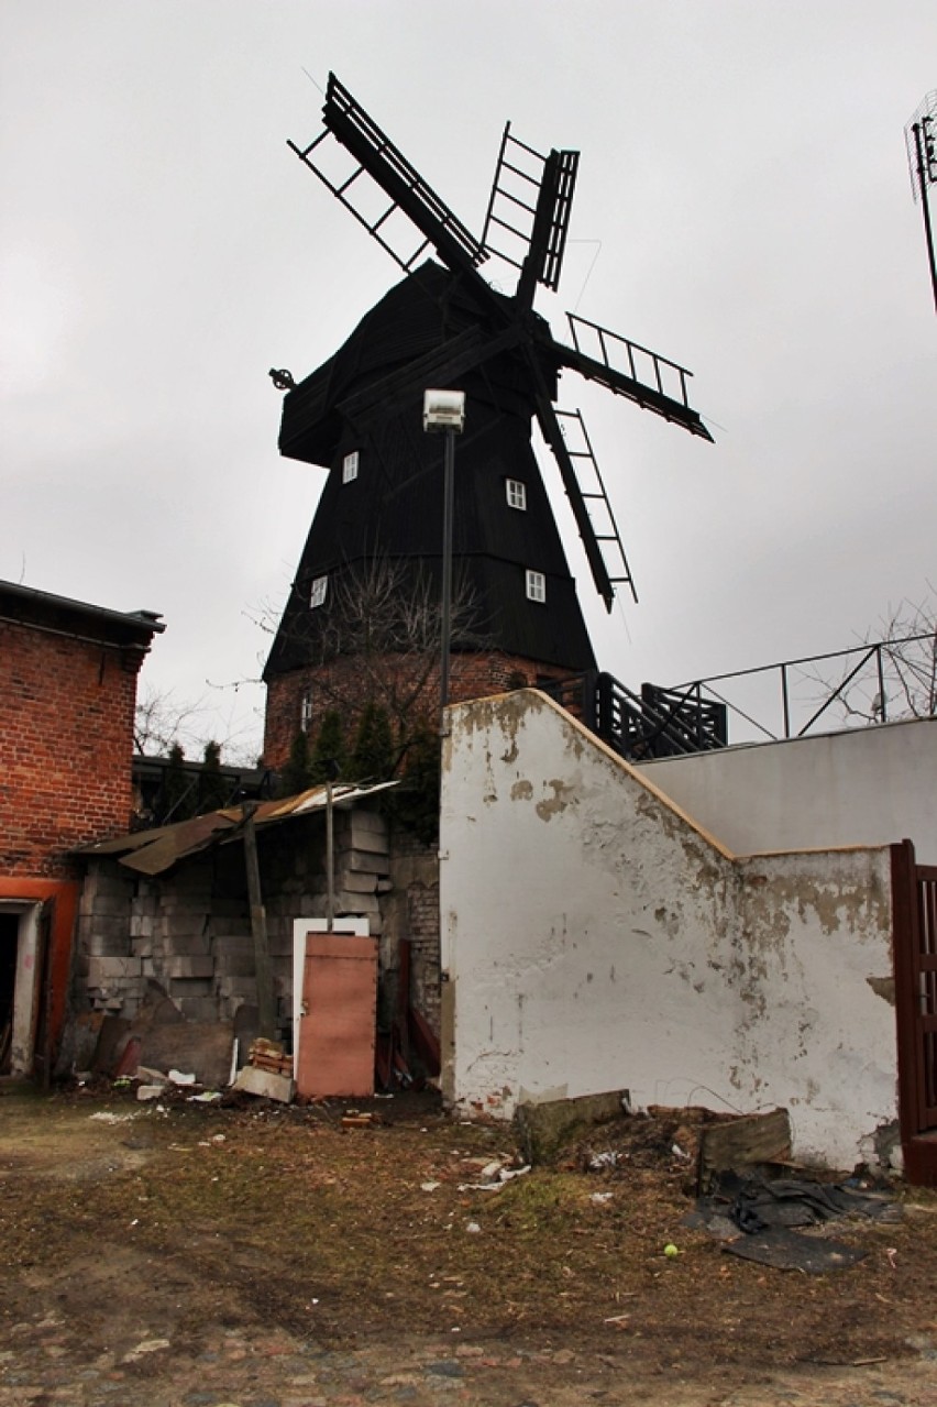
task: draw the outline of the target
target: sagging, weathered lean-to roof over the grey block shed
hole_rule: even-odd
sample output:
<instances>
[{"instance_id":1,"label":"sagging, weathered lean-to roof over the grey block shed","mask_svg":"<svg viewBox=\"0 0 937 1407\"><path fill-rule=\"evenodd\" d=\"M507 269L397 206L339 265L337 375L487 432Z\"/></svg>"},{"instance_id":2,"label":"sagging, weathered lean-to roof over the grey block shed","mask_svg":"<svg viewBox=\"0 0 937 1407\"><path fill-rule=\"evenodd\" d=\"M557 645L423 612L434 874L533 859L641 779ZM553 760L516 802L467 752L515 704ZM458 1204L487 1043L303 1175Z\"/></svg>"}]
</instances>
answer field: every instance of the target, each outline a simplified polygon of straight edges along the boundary
<instances>
[{"instance_id":1,"label":"sagging, weathered lean-to roof over the grey block shed","mask_svg":"<svg viewBox=\"0 0 937 1407\"><path fill-rule=\"evenodd\" d=\"M371 787L359 787L356 782L335 782L332 787L332 805L349 808L364 796L374 792L387 791L398 782L376 782ZM267 826L293 820L295 816L310 816L317 810L325 810L328 805L328 787L311 787L300 792L298 796L286 796L281 801L264 801L252 806L253 822L257 830ZM191 820L179 820L172 826L156 826L153 830L129 832L117 836L114 840L101 840L93 846L82 846L79 855L113 855L118 864L125 865L144 875L163 874L174 864L189 855L196 855L211 846L225 844L239 839L241 829L246 819L243 806L231 806L227 810L210 810L204 816L194 816Z\"/></svg>"}]
</instances>

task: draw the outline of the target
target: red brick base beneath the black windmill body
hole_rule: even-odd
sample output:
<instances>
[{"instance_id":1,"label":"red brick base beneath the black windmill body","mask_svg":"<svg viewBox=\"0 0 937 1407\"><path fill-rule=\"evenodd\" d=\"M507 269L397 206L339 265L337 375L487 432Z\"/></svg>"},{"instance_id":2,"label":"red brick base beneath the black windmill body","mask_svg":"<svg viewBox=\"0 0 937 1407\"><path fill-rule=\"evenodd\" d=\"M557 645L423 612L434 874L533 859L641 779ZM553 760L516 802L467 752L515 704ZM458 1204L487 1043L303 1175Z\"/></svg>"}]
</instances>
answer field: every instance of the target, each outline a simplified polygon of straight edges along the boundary
<instances>
[{"instance_id":1,"label":"red brick base beneath the black windmill body","mask_svg":"<svg viewBox=\"0 0 937 1407\"><path fill-rule=\"evenodd\" d=\"M307 670L293 670L272 678L267 684L267 708L263 740L263 761L266 767L281 768L288 756L293 739L300 730L301 701L307 689L312 695L311 733L318 729L318 720L328 709L338 708L346 722L346 732L355 727L357 706L366 698L381 704L381 689L394 687L397 680L405 680L414 666L401 658L381 661L377 671L369 677L360 661L355 658L336 660L329 666ZM536 660L499 651L453 653L449 668L449 698L453 704L485 698L488 694L504 694L506 689L536 684L537 678L561 680L568 670L559 670ZM377 685L373 682L377 677ZM435 716L439 708L439 667L429 671L422 689L419 708L426 716Z\"/></svg>"}]
</instances>

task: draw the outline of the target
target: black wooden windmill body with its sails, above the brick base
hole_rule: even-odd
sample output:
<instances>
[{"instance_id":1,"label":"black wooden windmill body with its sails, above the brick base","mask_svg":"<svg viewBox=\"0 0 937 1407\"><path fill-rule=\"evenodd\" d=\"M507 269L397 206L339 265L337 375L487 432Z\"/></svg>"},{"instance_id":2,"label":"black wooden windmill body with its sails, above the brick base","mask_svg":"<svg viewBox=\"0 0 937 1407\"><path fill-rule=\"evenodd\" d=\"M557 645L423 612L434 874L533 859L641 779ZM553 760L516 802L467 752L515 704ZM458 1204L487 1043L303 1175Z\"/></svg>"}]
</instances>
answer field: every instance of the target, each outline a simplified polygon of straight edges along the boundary
<instances>
[{"instance_id":1,"label":"black wooden windmill body with its sails, above the brick base","mask_svg":"<svg viewBox=\"0 0 937 1407\"><path fill-rule=\"evenodd\" d=\"M616 588L637 599L582 418L556 405L560 374L575 371L712 439L689 405L684 367L573 314L568 342L561 342L533 308L537 286L559 287L578 152L543 155L508 122L478 239L333 73L324 121L312 142L290 148L404 277L302 381L270 373L286 391L281 453L319 464L329 477L264 671L269 740L272 712L286 711L293 730L297 711L308 715L302 670L342 580L378 557L423 581L439 578L442 474L438 445L421 433L426 388L457 387L467 397L454 563L471 601L474 649L519 667L512 675L530 682L595 664L530 443L533 419L559 464L606 609ZM498 291L480 273L492 255L516 274L514 293ZM490 692L498 680L488 689L473 682L476 692ZM283 751L288 732L288 722L273 727L274 751Z\"/></svg>"}]
</instances>

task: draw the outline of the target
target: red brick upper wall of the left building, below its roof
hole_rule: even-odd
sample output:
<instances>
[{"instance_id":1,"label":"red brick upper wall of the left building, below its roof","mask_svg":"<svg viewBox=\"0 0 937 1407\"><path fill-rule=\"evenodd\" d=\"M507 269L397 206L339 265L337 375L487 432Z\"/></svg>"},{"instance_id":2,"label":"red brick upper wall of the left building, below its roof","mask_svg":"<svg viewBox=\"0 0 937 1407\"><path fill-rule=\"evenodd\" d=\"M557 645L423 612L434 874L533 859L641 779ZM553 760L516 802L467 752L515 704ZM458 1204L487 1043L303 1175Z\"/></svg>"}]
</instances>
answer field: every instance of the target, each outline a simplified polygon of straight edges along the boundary
<instances>
[{"instance_id":1,"label":"red brick upper wall of the left building, below its roof","mask_svg":"<svg viewBox=\"0 0 937 1407\"><path fill-rule=\"evenodd\" d=\"M139 650L0 622L0 874L68 877L131 820Z\"/></svg>"}]
</instances>

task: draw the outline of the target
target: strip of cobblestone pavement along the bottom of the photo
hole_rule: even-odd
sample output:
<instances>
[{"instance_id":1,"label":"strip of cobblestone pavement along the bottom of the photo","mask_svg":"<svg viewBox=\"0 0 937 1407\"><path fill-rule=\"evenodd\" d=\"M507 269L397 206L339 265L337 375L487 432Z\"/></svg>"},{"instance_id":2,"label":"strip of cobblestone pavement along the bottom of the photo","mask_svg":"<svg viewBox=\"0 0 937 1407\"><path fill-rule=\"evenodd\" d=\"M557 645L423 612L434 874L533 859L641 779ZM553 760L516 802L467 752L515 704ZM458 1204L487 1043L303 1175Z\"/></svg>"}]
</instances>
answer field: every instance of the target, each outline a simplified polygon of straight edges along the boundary
<instances>
[{"instance_id":1,"label":"strip of cobblestone pavement along the bottom of the photo","mask_svg":"<svg viewBox=\"0 0 937 1407\"><path fill-rule=\"evenodd\" d=\"M60 1318L14 1324L0 1349L0 1407L931 1407L937 1351L853 1366L784 1372L678 1368L636 1379L627 1354L494 1348L443 1339L335 1351L288 1335L208 1331L183 1351L141 1335L90 1363L66 1346Z\"/></svg>"}]
</instances>

